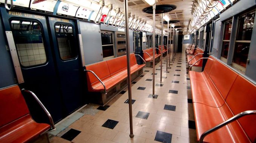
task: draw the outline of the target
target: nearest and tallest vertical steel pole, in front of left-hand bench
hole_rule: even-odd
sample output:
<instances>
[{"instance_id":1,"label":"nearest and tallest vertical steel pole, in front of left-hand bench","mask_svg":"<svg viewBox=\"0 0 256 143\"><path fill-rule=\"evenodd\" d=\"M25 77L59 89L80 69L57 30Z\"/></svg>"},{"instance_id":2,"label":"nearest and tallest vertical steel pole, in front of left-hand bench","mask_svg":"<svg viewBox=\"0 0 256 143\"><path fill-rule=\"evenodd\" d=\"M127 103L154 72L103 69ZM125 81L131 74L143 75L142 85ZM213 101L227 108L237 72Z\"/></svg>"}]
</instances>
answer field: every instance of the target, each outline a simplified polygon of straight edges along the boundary
<instances>
[{"instance_id":1,"label":"nearest and tallest vertical steel pole, in front of left-hand bench","mask_svg":"<svg viewBox=\"0 0 256 143\"><path fill-rule=\"evenodd\" d=\"M127 82L128 82L128 99L129 99L129 119L130 119L130 137L134 137L133 134L133 108L131 107L131 66L130 66L130 44L129 44L129 17L128 17L128 0L124 0L125 9L125 34L126 34L126 58L127 58Z\"/></svg>"}]
</instances>

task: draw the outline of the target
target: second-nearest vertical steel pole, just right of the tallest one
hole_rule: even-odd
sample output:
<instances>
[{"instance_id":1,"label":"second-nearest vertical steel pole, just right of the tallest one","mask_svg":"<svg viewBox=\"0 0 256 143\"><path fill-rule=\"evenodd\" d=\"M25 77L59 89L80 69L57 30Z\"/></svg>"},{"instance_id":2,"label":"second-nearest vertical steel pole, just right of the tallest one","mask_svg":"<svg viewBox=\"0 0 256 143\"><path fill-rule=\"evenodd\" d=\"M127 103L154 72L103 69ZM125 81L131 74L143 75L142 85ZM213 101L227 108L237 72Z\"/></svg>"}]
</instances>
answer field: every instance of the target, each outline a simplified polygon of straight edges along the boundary
<instances>
[{"instance_id":1,"label":"second-nearest vertical steel pole, just right of the tallest one","mask_svg":"<svg viewBox=\"0 0 256 143\"><path fill-rule=\"evenodd\" d=\"M153 5L153 93L152 96L155 96L155 47L156 47L156 38L155 38L155 29L156 29L156 4Z\"/></svg>"}]
</instances>

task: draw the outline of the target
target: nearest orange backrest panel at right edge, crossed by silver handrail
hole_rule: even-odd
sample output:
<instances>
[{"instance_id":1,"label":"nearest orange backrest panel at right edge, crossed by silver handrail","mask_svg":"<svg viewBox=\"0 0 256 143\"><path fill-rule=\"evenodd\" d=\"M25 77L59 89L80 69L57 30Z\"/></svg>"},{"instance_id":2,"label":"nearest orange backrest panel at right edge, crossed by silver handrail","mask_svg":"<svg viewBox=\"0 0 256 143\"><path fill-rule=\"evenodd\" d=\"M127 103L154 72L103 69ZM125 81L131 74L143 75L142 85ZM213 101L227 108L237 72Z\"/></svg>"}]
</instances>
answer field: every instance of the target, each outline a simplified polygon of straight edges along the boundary
<instances>
[{"instance_id":1,"label":"nearest orange backrest panel at right edge, crossed by silver handrail","mask_svg":"<svg viewBox=\"0 0 256 143\"><path fill-rule=\"evenodd\" d=\"M234 115L247 110L256 110L256 85L238 75L228 93L226 102ZM238 119L251 142L256 141L256 115Z\"/></svg>"}]
</instances>

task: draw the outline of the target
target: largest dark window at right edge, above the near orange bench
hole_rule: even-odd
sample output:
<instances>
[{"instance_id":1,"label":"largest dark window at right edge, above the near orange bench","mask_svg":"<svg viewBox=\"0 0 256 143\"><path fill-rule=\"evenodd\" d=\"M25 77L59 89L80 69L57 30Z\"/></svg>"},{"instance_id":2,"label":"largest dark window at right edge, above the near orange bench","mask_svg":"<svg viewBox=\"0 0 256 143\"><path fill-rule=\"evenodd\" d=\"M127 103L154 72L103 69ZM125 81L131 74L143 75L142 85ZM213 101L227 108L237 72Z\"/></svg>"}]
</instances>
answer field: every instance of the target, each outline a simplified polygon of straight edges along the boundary
<instances>
[{"instance_id":1,"label":"largest dark window at right edge, above the near orange bench","mask_svg":"<svg viewBox=\"0 0 256 143\"><path fill-rule=\"evenodd\" d=\"M255 11L239 16L236 43L234 47L233 64L242 66L244 71L250 49L251 35L253 32ZM235 63L235 64L234 64Z\"/></svg>"}]
</instances>

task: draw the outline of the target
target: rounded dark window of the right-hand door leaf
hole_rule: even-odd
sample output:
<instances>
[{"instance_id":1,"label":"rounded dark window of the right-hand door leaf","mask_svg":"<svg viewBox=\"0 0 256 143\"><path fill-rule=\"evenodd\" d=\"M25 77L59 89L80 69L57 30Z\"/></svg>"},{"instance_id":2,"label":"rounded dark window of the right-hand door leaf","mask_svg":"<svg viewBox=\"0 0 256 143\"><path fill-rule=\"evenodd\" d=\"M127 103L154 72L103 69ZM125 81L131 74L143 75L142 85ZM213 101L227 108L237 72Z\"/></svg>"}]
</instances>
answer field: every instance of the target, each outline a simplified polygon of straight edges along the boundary
<instances>
[{"instance_id":1,"label":"rounded dark window of the right-hand door leaf","mask_svg":"<svg viewBox=\"0 0 256 143\"><path fill-rule=\"evenodd\" d=\"M74 43L76 39L73 27L70 24L55 24L55 33L58 42L60 58L62 60L73 59L77 56Z\"/></svg>"}]
</instances>

